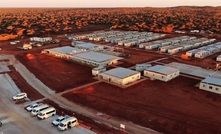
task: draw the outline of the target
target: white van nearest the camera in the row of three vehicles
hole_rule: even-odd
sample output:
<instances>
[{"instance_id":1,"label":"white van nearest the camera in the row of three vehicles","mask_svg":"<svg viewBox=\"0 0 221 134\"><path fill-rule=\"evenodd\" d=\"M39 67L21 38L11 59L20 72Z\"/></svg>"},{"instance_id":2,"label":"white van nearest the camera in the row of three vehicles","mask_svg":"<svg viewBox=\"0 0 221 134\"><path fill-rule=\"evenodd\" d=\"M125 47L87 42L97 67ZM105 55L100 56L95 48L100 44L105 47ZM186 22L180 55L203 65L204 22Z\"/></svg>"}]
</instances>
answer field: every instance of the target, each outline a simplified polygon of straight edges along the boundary
<instances>
[{"instance_id":1,"label":"white van nearest the camera in the row of three vehicles","mask_svg":"<svg viewBox=\"0 0 221 134\"><path fill-rule=\"evenodd\" d=\"M40 111L40 113L38 113L38 118L43 120L48 117L54 116L55 114L56 114L55 108L49 107L45 110Z\"/></svg>"}]
</instances>

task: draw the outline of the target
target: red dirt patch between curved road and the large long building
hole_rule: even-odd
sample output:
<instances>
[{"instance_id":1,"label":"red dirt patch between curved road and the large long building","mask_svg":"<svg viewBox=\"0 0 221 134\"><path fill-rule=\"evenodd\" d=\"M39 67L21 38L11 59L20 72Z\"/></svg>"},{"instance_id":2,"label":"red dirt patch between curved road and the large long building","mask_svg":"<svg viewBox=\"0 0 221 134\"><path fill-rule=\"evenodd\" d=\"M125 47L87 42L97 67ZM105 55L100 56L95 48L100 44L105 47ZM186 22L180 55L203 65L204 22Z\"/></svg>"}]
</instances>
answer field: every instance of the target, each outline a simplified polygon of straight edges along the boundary
<instances>
[{"instance_id":1,"label":"red dirt patch between curved road and the large long building","mask_svg":"<svg viewBox=\"0 0 221 134\"><path fill-rule=\"evenodd\" d=\"M78 63L45 54L17 55L16 58L56 92L96 81L91 74L92 68Z\"/></svg>"}]
</instances>

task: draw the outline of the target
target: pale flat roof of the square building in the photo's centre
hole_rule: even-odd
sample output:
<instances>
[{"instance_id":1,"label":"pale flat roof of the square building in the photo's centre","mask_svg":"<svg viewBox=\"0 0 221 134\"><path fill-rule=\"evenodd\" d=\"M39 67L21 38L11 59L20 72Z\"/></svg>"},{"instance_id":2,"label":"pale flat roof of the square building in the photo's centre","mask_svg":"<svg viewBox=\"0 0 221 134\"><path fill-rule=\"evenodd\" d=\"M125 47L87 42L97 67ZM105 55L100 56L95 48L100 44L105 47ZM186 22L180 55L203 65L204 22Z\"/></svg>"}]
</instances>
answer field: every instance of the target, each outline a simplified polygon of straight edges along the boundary
<instances>
[{"instance_id":1,"label":"pale flat roof of the square building in the photo's centre","mask_svg":"<svg viewBox=\"0 0 221 134\"><path fill-rule=\"evenodd\" d=\"M107 75L111 75L111 76L114 76L114 77L117 77L120 79L124 79L124 78L127 78L131 75L138 74L138 73L140 73L140 72L126 69L126 68L122 68L122 67L118 67L118 68L108 70L102 74L107 74Z\"/></svg>"}]
</instances>

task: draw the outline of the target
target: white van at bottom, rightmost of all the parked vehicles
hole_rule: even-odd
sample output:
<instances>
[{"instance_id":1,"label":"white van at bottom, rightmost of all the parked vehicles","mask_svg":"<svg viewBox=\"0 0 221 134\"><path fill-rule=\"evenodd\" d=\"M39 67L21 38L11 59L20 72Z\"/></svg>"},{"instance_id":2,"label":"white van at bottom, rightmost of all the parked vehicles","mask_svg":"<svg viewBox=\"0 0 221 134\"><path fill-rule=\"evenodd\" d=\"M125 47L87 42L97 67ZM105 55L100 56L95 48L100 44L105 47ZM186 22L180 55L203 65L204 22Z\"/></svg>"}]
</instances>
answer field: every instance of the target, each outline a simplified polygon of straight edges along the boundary
<instances>
[{"instance_id":1,"label":"white van at bottom, rightmost of all the parked vehicles","mask_svg":"<svg viewBox=\"0 0 221 134\"><path fill-rule=\"evenodd\" d=\"M74 127L77 125L77 118L75 117L69 117L65 120L63 120L59 125L58 125L58 130L64 131L67 130L68 128Z\"/></svg>"}]
</instances>

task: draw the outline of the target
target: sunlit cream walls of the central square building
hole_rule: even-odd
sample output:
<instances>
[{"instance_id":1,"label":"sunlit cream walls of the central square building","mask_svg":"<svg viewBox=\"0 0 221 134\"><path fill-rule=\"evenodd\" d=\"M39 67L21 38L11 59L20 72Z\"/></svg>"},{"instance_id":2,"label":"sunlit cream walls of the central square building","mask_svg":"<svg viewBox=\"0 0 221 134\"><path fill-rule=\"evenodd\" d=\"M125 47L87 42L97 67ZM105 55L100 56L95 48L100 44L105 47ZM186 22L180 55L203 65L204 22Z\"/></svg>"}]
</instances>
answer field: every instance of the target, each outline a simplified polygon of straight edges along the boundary
<instances>
[{"instance_id":1,"label":"sunlit cream walls of the central square building","mask_svg":"<svg viewBox=\"0 0 221 134\"><path fill-rule=\"evenodd\" d=\"M107 75L107 74L99 74L98 78L106 80L108 82L118 84L118 85L126 85L128 83L139 80L140 79L140 73L134 74L134 75L129 76L129 77L124 78L124 79L120 79L120 78L117 78L117 77L114 77L114 76L111 76L111 75Z\"/></svg>"}]
</instances>

